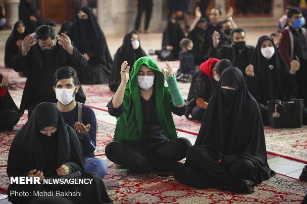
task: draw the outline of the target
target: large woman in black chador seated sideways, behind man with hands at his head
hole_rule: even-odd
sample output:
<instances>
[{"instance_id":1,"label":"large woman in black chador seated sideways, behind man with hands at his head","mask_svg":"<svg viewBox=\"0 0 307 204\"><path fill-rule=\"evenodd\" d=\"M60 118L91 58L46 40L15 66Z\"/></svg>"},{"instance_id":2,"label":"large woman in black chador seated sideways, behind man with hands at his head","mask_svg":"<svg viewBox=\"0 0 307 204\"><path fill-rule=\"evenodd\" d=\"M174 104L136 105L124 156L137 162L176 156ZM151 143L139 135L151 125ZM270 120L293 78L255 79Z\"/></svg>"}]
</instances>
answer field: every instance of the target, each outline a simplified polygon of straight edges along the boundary
<instances>
[{"instance_id":1,"label":"large woman in black chador seated sideways, behind man with hands at his head","mask_svg":"<svg viewBox=\"0 0 307 204\"><path fill-rule=\"evenodd\" d=\"M108 83L113 61L102 29L90 8L83 7L78 12L78 18L71 26L69 37L88 60L87 67L77 71L80 82Z\"/></svg>"}]
</instances>

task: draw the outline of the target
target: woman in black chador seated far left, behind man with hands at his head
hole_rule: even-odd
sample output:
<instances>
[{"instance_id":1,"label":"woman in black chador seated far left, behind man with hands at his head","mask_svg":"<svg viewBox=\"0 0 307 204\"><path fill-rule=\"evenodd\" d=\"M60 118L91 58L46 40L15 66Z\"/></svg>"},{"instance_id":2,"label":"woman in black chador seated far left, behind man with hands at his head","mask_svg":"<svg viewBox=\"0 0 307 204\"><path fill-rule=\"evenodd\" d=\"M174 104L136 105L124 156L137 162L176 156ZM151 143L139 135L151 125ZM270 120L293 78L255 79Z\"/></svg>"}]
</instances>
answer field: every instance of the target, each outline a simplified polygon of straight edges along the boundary
<instances>
[{"instance_id":1,"label":"woman in black chador seated far left, behind man with hands at his head","mask_svg":"<svg viewBox=\"0 0 307 204\"><path fill-rule=\"evenodd\" d=\"M5 43L4 64L7 68L13 67L13 61L18 54L23 39L27 36L27 31L23 21L17 21L14 24L13 31Z\"/></svg>"}]
</instances>

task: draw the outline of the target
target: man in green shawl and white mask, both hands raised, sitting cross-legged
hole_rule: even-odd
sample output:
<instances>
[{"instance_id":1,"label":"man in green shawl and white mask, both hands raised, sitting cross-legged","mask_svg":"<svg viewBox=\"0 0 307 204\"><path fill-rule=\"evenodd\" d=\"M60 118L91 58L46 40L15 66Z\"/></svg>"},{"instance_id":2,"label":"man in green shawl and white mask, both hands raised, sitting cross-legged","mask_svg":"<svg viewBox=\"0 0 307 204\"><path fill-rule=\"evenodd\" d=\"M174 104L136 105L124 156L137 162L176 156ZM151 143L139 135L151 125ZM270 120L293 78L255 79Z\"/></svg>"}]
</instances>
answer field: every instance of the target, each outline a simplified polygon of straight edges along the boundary
<instances>
[{"instance_id":1,"label":"man in green shawl and white mask, both hands raised, sitting cross-legged","mask_svg":"<svg viewBox=\"0 0 307 204\"><path fill-rule=\"evenodd\" d=\"M173 171L191 146L188 139L177 137L172 117L186 112L174 73L167 61L164 71L150 57L139 58L130 76L127 65L122 63L121 83L107 104L117 123L114 141L105 147L106 157L127 167L127 173Z\"/></svg>"}]
</instances>

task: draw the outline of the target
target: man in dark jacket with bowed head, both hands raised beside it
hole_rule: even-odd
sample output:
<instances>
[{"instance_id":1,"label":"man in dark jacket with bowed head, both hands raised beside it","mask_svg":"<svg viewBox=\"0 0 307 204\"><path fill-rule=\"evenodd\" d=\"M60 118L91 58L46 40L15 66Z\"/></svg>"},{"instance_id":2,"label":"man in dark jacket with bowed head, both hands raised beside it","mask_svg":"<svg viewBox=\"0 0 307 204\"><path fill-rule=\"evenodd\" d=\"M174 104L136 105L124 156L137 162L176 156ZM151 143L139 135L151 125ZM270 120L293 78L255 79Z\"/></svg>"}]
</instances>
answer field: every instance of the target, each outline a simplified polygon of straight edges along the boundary
<instances>
[{"instance_id":1,"label":"man in dark jacket with bowed head, both hands raised beside it","mask_svg":"<svg viewBox=\"0 0 307 204\"><path fill-rule=\"evenodd\" d=\"M37 42L33 35L25 37L19 54L13 62L16 72L25 72L27 75L20 112L23 114L27 109L28 118L37 104L45 101L56 102L51 88L55 70L63 66L84 68L87 65L84 56L72 45L65 34L55 38L54 30L48 25L43 25L36 29L35 35ZM78 91L76 100L85 102L83 90Z\"/></svg>"}]
</instances>

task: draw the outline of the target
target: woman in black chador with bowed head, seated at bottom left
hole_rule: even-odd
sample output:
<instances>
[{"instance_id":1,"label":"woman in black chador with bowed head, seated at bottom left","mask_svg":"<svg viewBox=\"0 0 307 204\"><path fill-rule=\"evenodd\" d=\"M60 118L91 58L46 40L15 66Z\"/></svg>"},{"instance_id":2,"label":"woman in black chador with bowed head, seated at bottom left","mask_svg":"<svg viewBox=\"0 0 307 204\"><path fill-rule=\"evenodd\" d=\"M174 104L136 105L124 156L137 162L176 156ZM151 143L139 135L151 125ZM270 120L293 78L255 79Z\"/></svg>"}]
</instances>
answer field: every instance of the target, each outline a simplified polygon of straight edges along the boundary
<instances>
[{"instance_id":1,"label":"woman in black chador with bowed head, seated at bottom left","mask_svg":"<svg viewBox=\"0 0 307 204\"><path fill-rule=\"evenodd\" d=\"M83 151L76 133L65 124L56 105L40 103L12 141L6 169L8 177L39 177L43 181L44 177L81 171L82 178L93 180L91 184L9 184L8 200L13 204L27 204L35 198L34 191L53 191L53 196L55 191L60 191L82 192L82 196L67 197L75 204L112 203L99 175L83 170ZM29 192L31 196L14 196L12 191Z\"/></svg>"}]
</instances>

